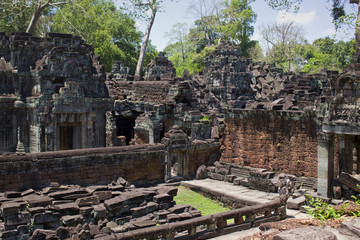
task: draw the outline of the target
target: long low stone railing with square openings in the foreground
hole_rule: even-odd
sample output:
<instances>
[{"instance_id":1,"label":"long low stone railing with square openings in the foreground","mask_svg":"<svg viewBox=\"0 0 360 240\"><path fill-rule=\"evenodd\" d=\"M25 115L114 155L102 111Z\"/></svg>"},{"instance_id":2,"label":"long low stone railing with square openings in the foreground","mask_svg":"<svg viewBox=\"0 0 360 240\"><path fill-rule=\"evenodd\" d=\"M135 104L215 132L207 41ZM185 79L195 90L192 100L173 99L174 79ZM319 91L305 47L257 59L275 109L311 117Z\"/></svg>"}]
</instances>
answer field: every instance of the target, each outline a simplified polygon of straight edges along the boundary
<instances>
[{"instance_id":1,"label":"long low stone railing with square openings in the foreground","mask_svg":"<svg viewBox=\"0 0 360 240\"><path fill-rule=\"evenodd\" d=\"M202 216L176 223L137 229L115 234L116 239L207 239L235 231L259 226L263 222L277 221L286 217L286 208L280 199L272 202L247 206L223 213ZM228 225L228 220L233 220ZM112 238L114 235L106 239Z\"/></svg>"}]
</instances>

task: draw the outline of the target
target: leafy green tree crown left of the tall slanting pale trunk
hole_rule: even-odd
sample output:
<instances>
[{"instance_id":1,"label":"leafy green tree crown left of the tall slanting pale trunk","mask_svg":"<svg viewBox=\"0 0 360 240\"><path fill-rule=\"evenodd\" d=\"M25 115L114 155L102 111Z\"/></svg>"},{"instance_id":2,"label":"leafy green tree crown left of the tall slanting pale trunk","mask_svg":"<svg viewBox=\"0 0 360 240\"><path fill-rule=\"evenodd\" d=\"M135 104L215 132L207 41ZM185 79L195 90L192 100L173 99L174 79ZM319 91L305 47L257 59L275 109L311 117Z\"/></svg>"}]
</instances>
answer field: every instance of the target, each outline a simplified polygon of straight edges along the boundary
<instances>
[{"instance_id":1,"label":"leafy green tree crown left of the tall slanting pale trunk","mask_svg":"<svg viewBox=\"0 0 360 240\"><path fill-rule=\"evenodd\" d=\"M124 62L134 73L141 33L135 21L111 0L79 0L58 8L52 31L80 36L94 46L95 54L107 71L115 60Z\"/></svg>"}]
</instances>

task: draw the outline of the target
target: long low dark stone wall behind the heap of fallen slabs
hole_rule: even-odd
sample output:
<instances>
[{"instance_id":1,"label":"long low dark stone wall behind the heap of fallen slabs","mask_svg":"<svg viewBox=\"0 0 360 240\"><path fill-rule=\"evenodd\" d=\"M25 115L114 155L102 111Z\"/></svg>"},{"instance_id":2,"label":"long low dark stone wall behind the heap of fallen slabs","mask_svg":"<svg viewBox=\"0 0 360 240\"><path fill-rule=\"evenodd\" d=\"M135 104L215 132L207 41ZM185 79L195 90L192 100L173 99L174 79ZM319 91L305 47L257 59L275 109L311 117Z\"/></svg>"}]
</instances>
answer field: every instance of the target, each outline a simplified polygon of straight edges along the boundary
<instances>
[{"instance_id":1,"label":"long low dark stone wall behind the heap of fallen slabs","mask_svg":"<svg viewBox=\"0 0 360 240\"><path fill-rule=\"evenodd\" d=\"M164 145L78 149L0 156L0 191L48 186L107 184L119 176L130 182L164 179Z\"/></svg>"}]
</instances>

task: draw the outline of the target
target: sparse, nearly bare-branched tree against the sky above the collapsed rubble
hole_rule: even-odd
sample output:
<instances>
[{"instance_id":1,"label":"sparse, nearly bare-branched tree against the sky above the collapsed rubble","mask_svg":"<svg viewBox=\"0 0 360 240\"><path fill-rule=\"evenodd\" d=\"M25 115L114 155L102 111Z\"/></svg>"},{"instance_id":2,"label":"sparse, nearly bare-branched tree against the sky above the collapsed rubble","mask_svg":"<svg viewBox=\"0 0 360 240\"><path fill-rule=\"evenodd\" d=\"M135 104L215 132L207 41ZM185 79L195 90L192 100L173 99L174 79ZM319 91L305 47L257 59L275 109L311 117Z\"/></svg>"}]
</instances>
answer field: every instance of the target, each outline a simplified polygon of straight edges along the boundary
<instances>
[{"instance_id":1,"label":"sparse, nearly bare-branched tree against the sky above the collapsed rubble","mask_svg":"<svg viewBox=\"0 0 360 240\"><path fill-rule=\"evenodd\" d=\"M261 35L268 46L267 58L283 68L287 63L286 68L291 71L296 47L304 43L304 30L294 22L272 23L262 27Z\"/></svg>"}]
</instances>

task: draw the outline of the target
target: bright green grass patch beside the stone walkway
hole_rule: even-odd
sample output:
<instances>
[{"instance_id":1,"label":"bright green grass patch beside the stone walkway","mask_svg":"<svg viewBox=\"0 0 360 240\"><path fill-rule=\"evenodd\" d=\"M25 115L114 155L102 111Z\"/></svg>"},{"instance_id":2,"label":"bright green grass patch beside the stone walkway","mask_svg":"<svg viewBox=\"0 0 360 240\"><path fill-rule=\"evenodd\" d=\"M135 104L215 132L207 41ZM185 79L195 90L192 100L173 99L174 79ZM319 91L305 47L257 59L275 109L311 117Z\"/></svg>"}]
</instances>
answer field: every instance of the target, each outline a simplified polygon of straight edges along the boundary
<instances>
[{"instance_id":1,"label":"bright green grass patch beside the stone walkway","mask_svg":"<svg viewBox=\"0 0 360 240\"><path fill-rule=\"evenodd\" d=\"M221 202L214 201L200 193L190 190L189 188L179 186L178 189L178 194L174 198L176 204L189 204L201 211L204 216L230 210L230 208L225 207Z\"/></svg>"}]
</instances>

